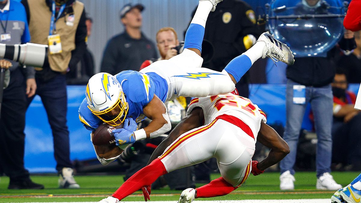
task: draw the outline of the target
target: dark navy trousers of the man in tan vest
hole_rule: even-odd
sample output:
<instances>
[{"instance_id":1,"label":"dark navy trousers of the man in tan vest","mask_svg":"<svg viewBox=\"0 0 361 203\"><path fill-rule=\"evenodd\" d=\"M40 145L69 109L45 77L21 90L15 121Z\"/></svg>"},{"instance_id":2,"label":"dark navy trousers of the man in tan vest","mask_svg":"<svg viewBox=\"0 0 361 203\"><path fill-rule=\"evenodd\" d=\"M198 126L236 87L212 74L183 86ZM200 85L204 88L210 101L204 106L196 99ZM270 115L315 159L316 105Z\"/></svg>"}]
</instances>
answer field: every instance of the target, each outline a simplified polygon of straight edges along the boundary
<instances>
[{"instance_id":1,"label":"dark navy trousers of the man in tan vest","mask_svg":"<svg viewBox=\"0 0 361 203\"><path fill-rule=\"evenodd\" d=\"M61 171L64 167L73 168L70 162L69 130L66 125L68 109L66 77L59 74L47 82L36 78L36 85L38 88L35 95L39 95L42 99L53 133L56 170ZM32 99L34 96L28 98L28 107Z\"/></svg>"}]
</instances>

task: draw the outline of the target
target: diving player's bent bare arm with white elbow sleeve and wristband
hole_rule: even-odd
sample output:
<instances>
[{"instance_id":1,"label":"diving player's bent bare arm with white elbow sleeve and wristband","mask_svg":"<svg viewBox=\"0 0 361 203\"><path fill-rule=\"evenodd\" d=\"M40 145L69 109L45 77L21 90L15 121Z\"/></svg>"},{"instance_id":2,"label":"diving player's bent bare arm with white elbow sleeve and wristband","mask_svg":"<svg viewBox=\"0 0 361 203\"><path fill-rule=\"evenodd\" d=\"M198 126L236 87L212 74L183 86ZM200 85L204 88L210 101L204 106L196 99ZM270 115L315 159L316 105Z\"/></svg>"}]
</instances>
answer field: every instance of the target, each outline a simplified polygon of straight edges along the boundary
<instances>
[{"instance_id":1,"label":"diving player's bent bare arm with white elbow sleeve and wristband","mask_svg":"<svg viewBox=\"0 0 361 203\"><path fill-rule=\"evenodd\" d=\"M149 102L144 108L143 113L152 121L144 129L146 138L155 138L168 132L171 129L170 119L167 113L167 109L156 95L153 96L151 102ZM145 136L138 136L135 133L136 140L145 139Z\"/></svg>"}]
</instances>

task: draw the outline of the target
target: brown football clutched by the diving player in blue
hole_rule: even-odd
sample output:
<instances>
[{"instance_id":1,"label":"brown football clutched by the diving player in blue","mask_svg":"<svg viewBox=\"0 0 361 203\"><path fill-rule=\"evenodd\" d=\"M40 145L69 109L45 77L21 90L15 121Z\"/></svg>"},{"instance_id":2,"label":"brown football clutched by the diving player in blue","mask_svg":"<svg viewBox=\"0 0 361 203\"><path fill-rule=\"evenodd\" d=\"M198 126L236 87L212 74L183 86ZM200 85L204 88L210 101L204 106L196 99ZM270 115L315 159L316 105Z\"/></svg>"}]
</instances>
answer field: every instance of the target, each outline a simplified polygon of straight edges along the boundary
<instances>
[{"instance_id":1,"label":"brown football clutched by the diving player in blue","mask_svg":"<svg viewBox=\"0 0 361 203\"><path fill-rule=\"evenodd\" d=\"M92 142L97 146L110 146L115 144L114 138L114 129L123 128L123 124L118 126L110 126L106 123L99 125L99 127L95 130Z\"/></svg>"}]
</instances>

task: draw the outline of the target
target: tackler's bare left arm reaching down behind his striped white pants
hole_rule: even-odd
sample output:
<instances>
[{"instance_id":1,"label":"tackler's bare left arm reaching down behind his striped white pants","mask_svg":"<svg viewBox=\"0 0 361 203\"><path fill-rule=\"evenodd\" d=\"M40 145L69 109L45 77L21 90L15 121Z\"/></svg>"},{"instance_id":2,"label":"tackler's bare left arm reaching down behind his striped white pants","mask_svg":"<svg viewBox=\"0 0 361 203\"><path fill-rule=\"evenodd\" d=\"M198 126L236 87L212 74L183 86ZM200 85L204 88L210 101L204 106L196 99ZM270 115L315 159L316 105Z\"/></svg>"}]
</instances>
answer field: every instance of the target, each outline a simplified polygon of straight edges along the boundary
<instances>
[{"instance_id":1,"label":"tackler's bare left arm reaching down behind his striped white pants","mask_svg":"<svg viewBox=\"0 0 361 203\"><path fill-rule=\"evenodd\" d=\"M158 147L154 150L151 158L148 161L149 165L155 160L158 156L162 155L165 149L170 146L179 136L187 131L198 128L203 125L203 110L199 107L196 107L192 110L190 115L184 117L181 122L170 132L168 137L158 145Z\"/></svg>"}]
</instances>

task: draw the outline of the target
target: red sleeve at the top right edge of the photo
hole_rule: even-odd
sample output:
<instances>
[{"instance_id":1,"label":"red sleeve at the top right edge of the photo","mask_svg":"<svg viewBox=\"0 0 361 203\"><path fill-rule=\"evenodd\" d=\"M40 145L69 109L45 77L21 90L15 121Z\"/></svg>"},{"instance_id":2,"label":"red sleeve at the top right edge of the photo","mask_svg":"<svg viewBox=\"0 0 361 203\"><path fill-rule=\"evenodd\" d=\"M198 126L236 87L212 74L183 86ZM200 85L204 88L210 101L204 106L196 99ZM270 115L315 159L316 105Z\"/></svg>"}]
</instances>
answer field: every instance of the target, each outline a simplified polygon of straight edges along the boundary
<instances>
[{"instance_id":1,"label":"red sleeve at the top right edge of the photo","mask_svg":"<svg viewBox=\"0 0 361 203\"><path fill-rule=\"evenodd\" d=\"M361 30L361 0L352 0L348 6L343 26L353 32Z\"/></svg>"}]
</instances>

